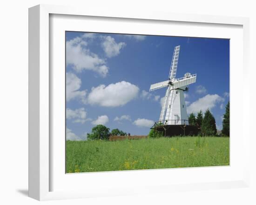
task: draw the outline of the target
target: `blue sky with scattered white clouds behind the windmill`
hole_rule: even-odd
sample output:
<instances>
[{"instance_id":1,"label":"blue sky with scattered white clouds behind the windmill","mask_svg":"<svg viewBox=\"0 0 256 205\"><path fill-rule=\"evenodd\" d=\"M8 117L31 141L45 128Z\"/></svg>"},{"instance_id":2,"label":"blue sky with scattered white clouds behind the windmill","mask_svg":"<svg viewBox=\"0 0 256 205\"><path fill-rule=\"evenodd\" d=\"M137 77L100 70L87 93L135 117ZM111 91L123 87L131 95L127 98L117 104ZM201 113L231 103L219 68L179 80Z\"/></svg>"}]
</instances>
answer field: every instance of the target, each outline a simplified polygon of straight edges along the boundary
<instances>
[{"instance_id":1,"label":"blue sky with scattered white clouds behind the windmill","mask_svg":"<svg viewBox=\"0 0 256 205\"><path fill-rule=\"evenodd\" d=\"M229 101L229 39L66 32L67 139L85 139L97 124L147 135L158 121L174 47L176 77L197 74L185 95L188 113L209 108L222 128Z\"/></svg>"}]
</instances>

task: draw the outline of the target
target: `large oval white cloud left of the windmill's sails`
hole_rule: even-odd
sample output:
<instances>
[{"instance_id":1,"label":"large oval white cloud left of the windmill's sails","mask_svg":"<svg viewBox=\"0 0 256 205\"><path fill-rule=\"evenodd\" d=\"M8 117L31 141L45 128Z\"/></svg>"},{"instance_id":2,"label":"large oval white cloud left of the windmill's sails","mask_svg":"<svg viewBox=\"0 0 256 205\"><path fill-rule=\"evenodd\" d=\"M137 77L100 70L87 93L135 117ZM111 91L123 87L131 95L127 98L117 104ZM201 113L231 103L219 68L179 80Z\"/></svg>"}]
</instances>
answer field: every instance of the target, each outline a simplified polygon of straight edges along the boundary
<instances>
[{"instance_id":1,"label":"large oval white cloud left of the windmill's sails","mask_svg":"<svg viewBox=\"0 0 256 205\"><path fill-rule=\"evenodd\" d=\"M133 100L138 95L139 90L136 85L125 81L111 83L108 86L99 85L92 88L87 100L91 105L118 107Z\"/></svg>"}]
</instances>

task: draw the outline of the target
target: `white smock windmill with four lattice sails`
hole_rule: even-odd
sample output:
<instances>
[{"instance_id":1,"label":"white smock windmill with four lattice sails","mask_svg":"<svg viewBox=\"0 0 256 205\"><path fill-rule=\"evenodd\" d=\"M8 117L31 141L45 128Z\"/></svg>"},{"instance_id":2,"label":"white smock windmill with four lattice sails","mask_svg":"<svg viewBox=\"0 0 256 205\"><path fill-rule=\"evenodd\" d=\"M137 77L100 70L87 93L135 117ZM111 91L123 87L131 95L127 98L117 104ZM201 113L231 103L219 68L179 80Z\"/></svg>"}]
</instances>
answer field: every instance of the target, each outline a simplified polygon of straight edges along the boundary
<instances>
[{"instance_id":1,"label":"white smock windmill with four lattice sails","mask_svg":"<svg viewBox=\"0 0 256 205\"><path fill-rule=\"evenodd\" d=\"M188 91L189 84L195 83L196 74L186 73L182 78L175 78L179 53L180 45L174 49L168 80L152 84L149 89L149 91L153 91L168 87L159 118L159 122L165 125L189 125L184 91Z\"/></svg>"}]
</instances>

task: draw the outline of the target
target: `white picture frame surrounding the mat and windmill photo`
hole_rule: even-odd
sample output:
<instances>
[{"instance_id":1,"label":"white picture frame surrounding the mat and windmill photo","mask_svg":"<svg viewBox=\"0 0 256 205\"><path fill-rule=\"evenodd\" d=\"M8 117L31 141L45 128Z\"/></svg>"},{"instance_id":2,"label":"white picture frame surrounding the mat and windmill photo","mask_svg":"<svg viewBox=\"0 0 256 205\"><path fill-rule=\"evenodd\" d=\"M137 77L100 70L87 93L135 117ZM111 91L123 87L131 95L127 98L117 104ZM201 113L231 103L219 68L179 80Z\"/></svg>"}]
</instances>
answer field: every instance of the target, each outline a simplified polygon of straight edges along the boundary
<instances>
[{"instance_id":1,"label":"white picture frame surrounding the mat and windmill photo","mask_svg":"<svg viewBox=\"0 0 256 205\"><path fill-rule=\"evenodd\" d=\"M176 24L187 22L200 24L217 24L225 27L227 25L242 26L243 29L243 79L246 82L249 75L249 19L240 17L222 17L209 15L193 15L193 14L175 14L175 13L160 13L160 12L141 12L128 11L127 13L119 12L117 10L94 10L86 8L77 8L70 6L51 6L38 5L29 8L29 197L37 200L51 200L51 199L73 199L73 198L87 198L98 196L118 196L129 194L155 193L155 192L172 192L174 190L201 190L201 189L218 189L218 188L232 188L232 187L248 187L249 186L249 129L245 129L245 119L249 119L249 89L240 88L243 91L243 150L244 163L241 165L243 169L243 177L234 180L220 180L215 182L208 182L203 179L199 183L176 183L171 184L155 184L143 186L128 187L127 189L118 190L117 186L111 188L111 192L96 193L93 190L87 192L85 189L78 190L62 190L51 191L51 159L50 152L52 144L50 139L51 134L51 115L52 107L50 101L52 97L51 90L51 72L50 72L50 15L73 15L102 17L102 18L121 18L121 19L136 19L140 20L157 20L172 21ZM232 55L232 54L231 54ZM230 76L232 80L232 75ZM234 77L235 79L235 77ZM231 107L232 110L232 107ZM232 118L232 111L231 111ZM232 141L232 137L230 139ZM232 146L230 147L232 149ZM231 163L230 163L231 164ZM232 166L232 164L231 164ZM213 167L211 172L215 172L217 167ZM174 169L172 169L174 170ZM184 169L175 169L175 173L183 172ZM192 170L192 169L190 169ZM159 171L151 171L155 174ZM168 173L170 170L164 170ZM192 172L192 171L191 171ZM119 175L130 173L133 176L141 174L135 172L118 172ZM65 173L64 173L65 174ZM115 172L109 173L115 177ZM116 173L117 174L117 173ZM78 175L76 175L78 176ZM80 175L82 176L82 175ZM93 177L93 175L90 175ZM101 176L104 178L104 175ZM77 183L77 182L75 182ZM88 185L89 186L89 185ZM156 191L157 190L157 191Z\"/></svg>"}]
</instances>

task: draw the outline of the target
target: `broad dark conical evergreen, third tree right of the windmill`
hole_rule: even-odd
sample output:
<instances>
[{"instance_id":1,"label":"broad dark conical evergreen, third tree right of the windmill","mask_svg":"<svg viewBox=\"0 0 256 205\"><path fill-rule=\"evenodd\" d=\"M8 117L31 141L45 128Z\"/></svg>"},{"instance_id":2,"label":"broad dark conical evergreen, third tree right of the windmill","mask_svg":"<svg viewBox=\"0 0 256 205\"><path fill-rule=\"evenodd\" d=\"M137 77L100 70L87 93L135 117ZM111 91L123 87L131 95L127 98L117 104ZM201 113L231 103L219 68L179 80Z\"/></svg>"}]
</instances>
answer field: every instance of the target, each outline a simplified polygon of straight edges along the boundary
<instances>
[{"instance_id":1,"label":"broad dark conical evergreen, third tree right of the windmill","mask_svg":"<svg viewBox=\"0 0 256 205\"><path fill-rule=\"evenodd\" d=\"M216 135L216 121L209 109L204 113L201 130L204 135Z\"/></svg>"}]
</instances>

